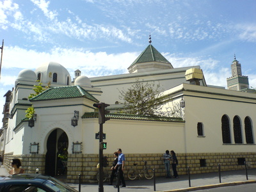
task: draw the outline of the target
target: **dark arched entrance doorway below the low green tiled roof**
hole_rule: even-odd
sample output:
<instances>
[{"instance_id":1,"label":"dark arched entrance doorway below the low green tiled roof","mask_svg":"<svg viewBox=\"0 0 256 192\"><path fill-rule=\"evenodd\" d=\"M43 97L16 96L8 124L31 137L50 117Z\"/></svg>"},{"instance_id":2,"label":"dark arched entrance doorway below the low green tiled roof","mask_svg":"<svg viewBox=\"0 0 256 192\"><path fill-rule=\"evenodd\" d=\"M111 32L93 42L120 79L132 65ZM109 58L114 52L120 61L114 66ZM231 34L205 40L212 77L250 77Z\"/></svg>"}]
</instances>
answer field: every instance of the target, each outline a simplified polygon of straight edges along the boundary
<instances>
[{"instance_id":1,"label":"dark arched entrance doorway below the low green tiled roof","mask_svg":"<svg viewBox=\"0 0 256 192\"><path fill-rule=\"evenodd\" d=\"M62 129L54 129L47 139L47 152L45 154L45 175L56 176L67 174L63 169L60 172L60 162L67 165L68 156L68 136Z\"/></svg>"}]
</instances>

